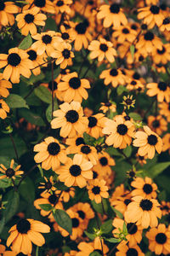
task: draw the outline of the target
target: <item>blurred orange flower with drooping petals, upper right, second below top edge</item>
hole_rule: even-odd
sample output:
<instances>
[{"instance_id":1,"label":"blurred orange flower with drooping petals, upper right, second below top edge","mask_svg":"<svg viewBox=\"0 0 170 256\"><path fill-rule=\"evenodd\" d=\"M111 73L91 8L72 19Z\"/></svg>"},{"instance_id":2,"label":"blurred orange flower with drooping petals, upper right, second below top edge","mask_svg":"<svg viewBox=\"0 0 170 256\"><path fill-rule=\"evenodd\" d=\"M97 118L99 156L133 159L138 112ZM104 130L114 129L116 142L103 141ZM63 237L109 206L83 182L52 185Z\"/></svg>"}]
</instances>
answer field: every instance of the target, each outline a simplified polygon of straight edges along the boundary
<instances>
[{"instance_id":1,"label":"blurred orange flower with drooping petals, upper right, second below top edge","mask_svg":"<svg viewBox=\"0 0 170 256\"><path fill-rule=\"evenodd\" d=\"M136 44L137 49L145 49L145 52L150 54L154 49L162 49L161 39L156 37L153 32L147 31L139 36L139 42Z\"/></svg>"}]
</instances>

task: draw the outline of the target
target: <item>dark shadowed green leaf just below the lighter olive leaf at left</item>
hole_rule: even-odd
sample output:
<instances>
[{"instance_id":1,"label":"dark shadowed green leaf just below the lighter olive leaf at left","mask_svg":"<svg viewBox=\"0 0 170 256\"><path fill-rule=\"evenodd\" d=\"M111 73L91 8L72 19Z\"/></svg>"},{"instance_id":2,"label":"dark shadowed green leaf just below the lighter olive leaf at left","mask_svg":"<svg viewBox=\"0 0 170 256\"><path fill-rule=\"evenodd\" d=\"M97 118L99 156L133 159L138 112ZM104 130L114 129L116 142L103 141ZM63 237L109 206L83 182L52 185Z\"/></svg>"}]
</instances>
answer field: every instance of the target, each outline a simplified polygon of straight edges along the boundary
<instances>
[{"instance_id":1,"label":"dark shadowed green leaf just below the lighter olive leaf at left","mask_svg":"<svg viewBox=\"0 0 170 256\"><path fill-rule=\"evenodd\" d=\"M32 125L45 126L45 123L37 113L33 113L28 109L20 109L20 116L26 119Z\"/></svg>"}]
</instances>

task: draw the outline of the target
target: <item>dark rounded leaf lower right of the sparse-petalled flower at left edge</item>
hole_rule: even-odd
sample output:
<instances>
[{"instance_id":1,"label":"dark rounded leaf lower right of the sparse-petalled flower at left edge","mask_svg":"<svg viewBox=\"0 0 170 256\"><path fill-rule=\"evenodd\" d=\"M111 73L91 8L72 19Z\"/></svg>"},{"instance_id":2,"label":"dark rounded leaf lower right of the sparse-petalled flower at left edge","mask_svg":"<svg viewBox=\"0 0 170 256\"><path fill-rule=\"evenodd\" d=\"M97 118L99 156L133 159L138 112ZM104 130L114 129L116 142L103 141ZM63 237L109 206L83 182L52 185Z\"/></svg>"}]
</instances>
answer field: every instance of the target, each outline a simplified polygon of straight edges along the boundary
<instances>
[{"instance_id":1,"label":"dark rounded leaf lower right of the sparse-petalled flower at left edge","mask_svg":"<svg viewBox=\"0 0 170 256\"><path fill-rule=\"evenodd\" d=\"M25 201L32 203L35 200L35 186L30 177L26 177L26 179L20 183L19 191Z\"/></svg>"}]
</instances>

